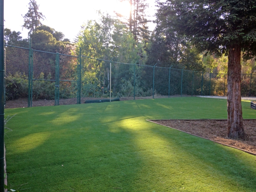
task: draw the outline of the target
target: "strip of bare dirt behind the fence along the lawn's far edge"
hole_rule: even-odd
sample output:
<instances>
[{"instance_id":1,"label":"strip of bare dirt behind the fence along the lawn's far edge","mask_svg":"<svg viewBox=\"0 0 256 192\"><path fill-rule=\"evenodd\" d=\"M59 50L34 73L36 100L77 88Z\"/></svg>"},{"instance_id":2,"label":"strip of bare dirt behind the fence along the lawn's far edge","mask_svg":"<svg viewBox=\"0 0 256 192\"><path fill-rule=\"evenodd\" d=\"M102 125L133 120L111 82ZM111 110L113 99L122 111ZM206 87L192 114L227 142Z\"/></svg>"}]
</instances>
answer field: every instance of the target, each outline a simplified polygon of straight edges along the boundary
<instances>
[{"instance_id":1,"label":"strip of bare dirt behind the fence along the lawn's far edge","mask_svg":"<svg viewBox=\"0 0 256 192\"><path fill-rule=\"evenodd\" d=\"M189 95L182 95L183 97L187 97ZM170 97L180 97L180 95L170 95ZM139 99L151 99L152 96L148 97L135 97L135 100ZM155 95L154 98L168 98L168 95ZM93 98L93 97L81 97L81 103L84 103L86 100L100 100L102 98ZM120 97L120 101L125 100L133 100L133 97ZM60 105L71 105L71 104L77 104L77 98L69 98L69 99L60 99L59 100ZM54 106L54 100L33 100L32 101L33 107L38 106ZM28 107L28 99L18 99L18 100L12 100L12 101L6 101L5 108L23 108Z\"/></svg>"}]
</instances>

